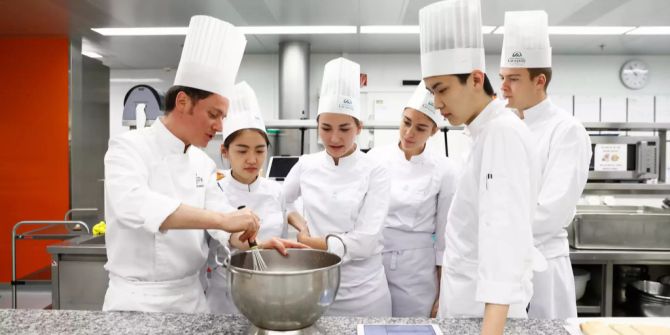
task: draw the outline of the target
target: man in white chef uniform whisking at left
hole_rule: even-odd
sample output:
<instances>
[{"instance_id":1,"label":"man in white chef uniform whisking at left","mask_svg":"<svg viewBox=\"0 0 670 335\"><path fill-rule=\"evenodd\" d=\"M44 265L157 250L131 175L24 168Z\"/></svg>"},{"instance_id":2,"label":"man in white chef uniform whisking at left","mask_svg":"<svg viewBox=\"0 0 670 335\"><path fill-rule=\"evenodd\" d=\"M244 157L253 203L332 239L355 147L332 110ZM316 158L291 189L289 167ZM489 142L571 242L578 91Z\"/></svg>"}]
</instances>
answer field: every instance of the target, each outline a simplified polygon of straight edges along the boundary
<instances>
[{"instance_id":1,"label":"man in white chef uniform whisking at left","mask_svg":"<svg viewBox=\"0 0 670 335\"><path fill-rule=\"evenodd\" d=\"M198 148L221 131L245 45L229 23L192 17L165 115L110 140L103 310L207 312L204 229L221 241L227 232L255 238L258 217L227 205L215 163Z\"/></svg>"}]
</instances>

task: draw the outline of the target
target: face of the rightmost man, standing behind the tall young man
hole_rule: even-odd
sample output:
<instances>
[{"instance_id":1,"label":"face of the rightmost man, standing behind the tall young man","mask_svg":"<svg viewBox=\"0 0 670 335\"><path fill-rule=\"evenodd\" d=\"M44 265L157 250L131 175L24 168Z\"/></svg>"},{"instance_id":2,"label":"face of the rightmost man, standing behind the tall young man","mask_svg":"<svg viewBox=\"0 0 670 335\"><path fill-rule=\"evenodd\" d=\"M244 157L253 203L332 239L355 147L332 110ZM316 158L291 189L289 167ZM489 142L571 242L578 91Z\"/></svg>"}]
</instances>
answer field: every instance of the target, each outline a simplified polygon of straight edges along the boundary
<instances>
[{"instance_id":1,"label":"face of the rightmost man, standing behind the tall young man","mask_svg":"<svg viewBox=\"0 0 670 335\"><path fill-rule=\"evenodd\" d=\"M536 104L537 90L544 89L543 84L539 83L539 78L540 76L530 79L530 72L525 68L501 68L500 90L507 99L507 107L520 111L533 107Z\"/></svg>"}]
</instances>

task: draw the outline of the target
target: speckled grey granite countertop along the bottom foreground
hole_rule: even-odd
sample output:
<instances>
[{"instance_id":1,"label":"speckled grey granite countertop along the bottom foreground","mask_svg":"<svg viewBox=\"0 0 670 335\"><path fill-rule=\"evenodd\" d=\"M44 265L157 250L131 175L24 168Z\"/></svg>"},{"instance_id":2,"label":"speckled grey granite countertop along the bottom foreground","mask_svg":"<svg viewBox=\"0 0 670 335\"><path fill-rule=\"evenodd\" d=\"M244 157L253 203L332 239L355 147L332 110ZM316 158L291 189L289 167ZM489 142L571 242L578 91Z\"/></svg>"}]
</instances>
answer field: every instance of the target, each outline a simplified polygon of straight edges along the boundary
<instances>
[{"instance_id":1,"label":"speckled grey granite countertop along the bottom foreground","mask_svg":"<svg viewBox=\"0 0 670 335\"><path fill-rule=\"evenodd\" d=\"M437 323L445 335L479 334L480 319L322 317L323 334L356 334L359 323ZM508 320L505 334L568 334L562 320ZM241 315L0 309L0 334L246 334Z\"/></svg>"}]
</instances>

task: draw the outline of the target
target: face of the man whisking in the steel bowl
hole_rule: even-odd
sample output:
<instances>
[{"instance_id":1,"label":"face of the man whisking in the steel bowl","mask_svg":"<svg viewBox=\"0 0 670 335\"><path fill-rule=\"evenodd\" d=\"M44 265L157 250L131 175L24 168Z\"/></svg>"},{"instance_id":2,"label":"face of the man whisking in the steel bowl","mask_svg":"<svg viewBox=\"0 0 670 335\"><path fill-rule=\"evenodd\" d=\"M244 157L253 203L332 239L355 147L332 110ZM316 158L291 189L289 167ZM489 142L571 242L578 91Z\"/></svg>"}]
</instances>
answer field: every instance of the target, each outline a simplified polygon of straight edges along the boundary
<instances>
[{"instance_id":1,"label":"face of the man whisking in the steel bowl","mask_svg":"<svg viewBox=\"0 0 670 335\"><path fill-rule=\"evenodd\" d=\"M189 100L184 115L188 122L188 141L197 147L206 147L214 135L223 129L222 120L228 113L228 98L212 94L195 104Z\"/></svg>"}]
</instances>

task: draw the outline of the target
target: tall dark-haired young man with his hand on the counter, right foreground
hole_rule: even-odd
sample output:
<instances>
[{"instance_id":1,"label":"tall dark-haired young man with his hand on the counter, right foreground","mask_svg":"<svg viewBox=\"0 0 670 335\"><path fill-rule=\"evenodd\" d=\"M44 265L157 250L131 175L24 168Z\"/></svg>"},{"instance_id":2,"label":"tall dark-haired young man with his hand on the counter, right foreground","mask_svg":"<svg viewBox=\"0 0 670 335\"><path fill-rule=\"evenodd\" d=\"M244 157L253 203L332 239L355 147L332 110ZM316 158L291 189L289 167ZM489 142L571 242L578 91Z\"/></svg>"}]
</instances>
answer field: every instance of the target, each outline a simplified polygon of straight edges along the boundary
<instances>
[{"instance_id":1,"label":"tall dark-haired young man with his hand on the counter, right foreground","mask_svg":"<svg viewBox=\"0 0 670 335\"><path fill-rule=\"evenodd\" d=\"M482 334L525 318L541 254L531 222L539 169L530 131L493 98L485 74L479 0L419 11L421 71L452 125L472 138L445 229L439 317L483 317Z\"/></svg>"}]
</instances>

